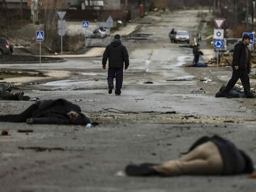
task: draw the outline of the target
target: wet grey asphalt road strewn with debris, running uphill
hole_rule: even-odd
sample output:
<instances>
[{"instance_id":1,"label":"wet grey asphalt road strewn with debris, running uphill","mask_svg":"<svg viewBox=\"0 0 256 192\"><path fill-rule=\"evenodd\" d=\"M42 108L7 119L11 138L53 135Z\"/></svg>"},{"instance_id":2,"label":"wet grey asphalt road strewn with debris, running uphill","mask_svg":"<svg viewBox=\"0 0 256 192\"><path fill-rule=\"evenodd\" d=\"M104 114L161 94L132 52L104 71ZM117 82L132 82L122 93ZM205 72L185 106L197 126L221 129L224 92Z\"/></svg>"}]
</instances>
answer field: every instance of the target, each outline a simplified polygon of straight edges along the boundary
<instances>
[{"instance_id":1,"label":"wet grey asphalt road strewn with debris, running uphill","mask_svg":"<svg viewBox=\"0 0 256 192\"><path fill-rule=\"evenodd\" d=\"M151 15L123 39L130 53L121 96L108 94L101 59L70 59L43 64L45 70L69 70L67 80L28 85L26 93L42 99L76 102L100 125L76 126L1 123L10 136L0 136L0 191L253 191L247 175L234 177L118 177L130 162L175 159L203 135L228 138L256 159L254 101L214 98L218 81L203 84L206 69L184 69L191 49L169 42L171 28L197 33L198 12ZM150 21L150 22L148 22ZM34 64L12 67L35 69ZM186 81L166 81L186 79ZM153 84L144 84L152 81ZM207 93L191 91L204 88ZM76 101L82 99L82 101ZM1 114L18 113L32 102L0 101ZM250 107L247 107L250 106ZM113 108L115 112L109 110ZM169 114L176 112L176 114ZM33 133L18 133L19 128ZM36 149L45 150L36 151ZM54 149L55 148L55 149Z\"/></svg>"}]
</instances>

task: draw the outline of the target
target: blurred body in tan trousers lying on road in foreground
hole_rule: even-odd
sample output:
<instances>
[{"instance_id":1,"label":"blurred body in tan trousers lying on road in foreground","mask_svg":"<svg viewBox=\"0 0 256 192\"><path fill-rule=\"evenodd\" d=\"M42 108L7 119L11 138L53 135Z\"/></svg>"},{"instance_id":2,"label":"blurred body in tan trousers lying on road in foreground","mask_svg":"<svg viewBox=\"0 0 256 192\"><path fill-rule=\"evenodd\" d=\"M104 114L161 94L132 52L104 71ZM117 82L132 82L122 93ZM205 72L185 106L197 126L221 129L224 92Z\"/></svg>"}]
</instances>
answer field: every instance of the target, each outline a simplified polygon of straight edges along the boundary
<instances>
[{"instance_id":1,"label":"blurred body in tan trousers lying on road in foreground","mask_svg":"<svg viewBox=\"0 0 256 192\"><path fill-rule=\"evenodd\" d=\"M162 164L127 165L130 176L236 175L254 172L254 164L245 152L220 136L203 136L181 159Z\"/></svg>"}]
</instances>

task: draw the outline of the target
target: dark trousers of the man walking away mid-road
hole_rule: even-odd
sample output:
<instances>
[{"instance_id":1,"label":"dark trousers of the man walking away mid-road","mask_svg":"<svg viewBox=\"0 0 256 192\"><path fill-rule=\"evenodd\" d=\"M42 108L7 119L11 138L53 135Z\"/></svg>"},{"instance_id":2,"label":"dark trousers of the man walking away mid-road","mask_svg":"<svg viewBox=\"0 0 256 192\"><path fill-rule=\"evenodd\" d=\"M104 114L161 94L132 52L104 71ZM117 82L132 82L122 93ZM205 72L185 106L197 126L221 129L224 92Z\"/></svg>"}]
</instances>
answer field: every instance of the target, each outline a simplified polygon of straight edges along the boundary
<instances>
[{"instance_id":1,"label":"dark trousers of the man walking away mid-road","mask_svg":"<svg viewBox=\"0 0 256 192\"><path fill-rule=\"evenodd\" d=\"M109 68L108 69L108 86L114 86L114 78L116 78L116 94L121 94L122 78L124 68Z\"/></svg>"}]
</instances>

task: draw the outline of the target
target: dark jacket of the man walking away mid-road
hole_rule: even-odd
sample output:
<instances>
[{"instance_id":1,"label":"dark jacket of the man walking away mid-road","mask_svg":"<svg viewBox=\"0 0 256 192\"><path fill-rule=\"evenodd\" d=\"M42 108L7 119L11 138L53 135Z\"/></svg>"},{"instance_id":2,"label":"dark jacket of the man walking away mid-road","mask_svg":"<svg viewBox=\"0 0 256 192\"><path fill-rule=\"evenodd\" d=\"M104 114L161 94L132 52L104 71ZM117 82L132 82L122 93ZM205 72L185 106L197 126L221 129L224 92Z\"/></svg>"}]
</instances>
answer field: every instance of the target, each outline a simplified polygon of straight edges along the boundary
<instances>
[{"instance_id":1,"label":"dark jacket of the man walking away mid-road","mask_svg":"<svg viewBox=\"0 0 256 192\"><path fill-rule=\"evenodd\" d=\"M102 65L106 65L108 60L109 68L124 68L129 66L129 54L120 40L114 40L106 46L103 54Z\"/></svg>"}]
</instances>

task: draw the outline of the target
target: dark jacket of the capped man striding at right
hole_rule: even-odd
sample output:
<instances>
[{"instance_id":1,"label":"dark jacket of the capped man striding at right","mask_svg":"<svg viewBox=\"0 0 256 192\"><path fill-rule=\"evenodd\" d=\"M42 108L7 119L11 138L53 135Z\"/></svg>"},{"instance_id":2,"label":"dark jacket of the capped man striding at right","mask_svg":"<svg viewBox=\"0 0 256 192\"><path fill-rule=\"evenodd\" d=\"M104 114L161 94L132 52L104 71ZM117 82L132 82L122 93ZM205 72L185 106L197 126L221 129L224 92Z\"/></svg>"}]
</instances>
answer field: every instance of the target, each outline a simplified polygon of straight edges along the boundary
<instances>
[{"instance_id":1,"label":"dark jacket of the capped man striding at right","mask_svg":"<svg viewBox=\"0 0 256 192\"><path fill-rule=\"evenodd\" d=\"M248 58L246 59L246 49L248 50ZM245 61L247 60L247 63ZM250 60L251 60L251 54L247 46L240 41L237 43L234 47L233 52L233 63L232 67L238 66L239 69L248 69L248 72L250 72Z\"/></svg>"}]
</instances>

